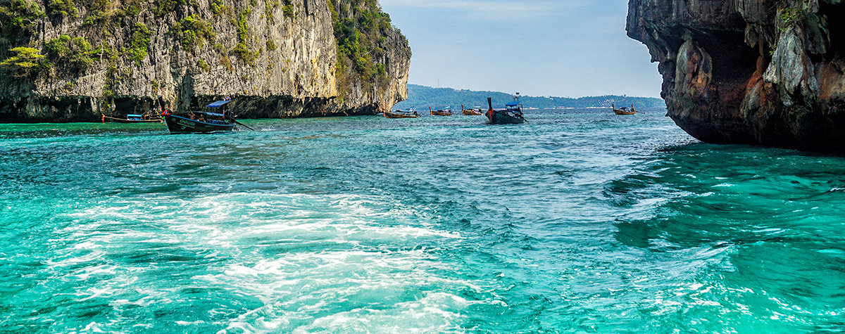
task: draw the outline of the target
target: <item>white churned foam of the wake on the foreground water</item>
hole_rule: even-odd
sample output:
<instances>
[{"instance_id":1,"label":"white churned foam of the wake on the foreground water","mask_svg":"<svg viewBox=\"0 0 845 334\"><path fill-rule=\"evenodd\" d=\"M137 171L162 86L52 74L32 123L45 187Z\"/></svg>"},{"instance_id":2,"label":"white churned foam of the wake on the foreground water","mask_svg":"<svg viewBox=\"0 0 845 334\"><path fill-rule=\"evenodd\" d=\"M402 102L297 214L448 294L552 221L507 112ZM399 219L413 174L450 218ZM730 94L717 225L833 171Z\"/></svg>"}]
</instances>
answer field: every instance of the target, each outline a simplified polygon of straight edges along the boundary
<instances>
[{"instance_id":1,"label":"white churned foam of the wake on the foreground water","mask_svg":"<svg viewBox=\"0 0 845 334\"><path fill-rule=\"evenodd\" d=\"M211 262L204 270L209 273L192 279L254 297L261 306L228 321L224 331L457 331L461 313L474 302L439 291L481 293L482 288L439 275L454 265L440 262L435 256L440 250L427 245L463 237L438 229L428 214L357 195L235 193L103 201L101 207L68 215L77 224L63 230L68 235L63 241L78 256L51 263L66 267L90 261L92 266L75 276L103 279L80 290L79 300L137 296L112 301L121 310L173 302L177 289L158 285L163 281L146 281L154 285L140 289L138 277L157 266L112 260L114 254L132 256L123 255L128 245L141 256L178 251L226 259ZM409 291L417 292L409 297ZM377 307L368 306L373 303ZM231 310L210 311L215 312Z\"/></svg>"}]
</instances>

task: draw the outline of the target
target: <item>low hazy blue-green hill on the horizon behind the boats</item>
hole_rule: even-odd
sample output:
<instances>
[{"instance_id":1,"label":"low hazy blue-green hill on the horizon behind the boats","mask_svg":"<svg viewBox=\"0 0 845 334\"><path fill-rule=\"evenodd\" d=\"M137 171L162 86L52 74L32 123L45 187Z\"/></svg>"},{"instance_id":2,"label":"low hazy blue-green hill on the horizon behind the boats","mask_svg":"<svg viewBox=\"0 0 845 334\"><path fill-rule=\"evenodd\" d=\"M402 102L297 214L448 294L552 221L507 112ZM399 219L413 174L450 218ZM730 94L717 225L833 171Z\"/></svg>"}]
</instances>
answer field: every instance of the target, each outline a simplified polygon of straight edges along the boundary
<instances>
[{"instance_id":1,"label":"low hazy blue-green hill on the horizon behind the boats","mask_svg":"<svg viewBox=\"0 0 845 334\"><path fill-rule=\"evenodd\" d=\"M501 108L510 100L513 94L488 91L474 91L466 89L432 88L417 84L408 85L408 100L396 104L393 109L406 109L411 106L417 108L444 108L451 106L460 110L461 104L466 108L477 105L487 109L487 98L493 98L493 107ZM665 108L666 103L662 99L631 97L619 95L591 96L582 98L563 97L537 97L522 96L522 105L526 108L554 109L554 108L589 108L589 107L610 107L613 103L618 107L635 105L637 108Z\"/></svg>"}]
</instances>

